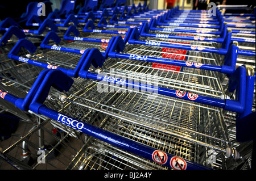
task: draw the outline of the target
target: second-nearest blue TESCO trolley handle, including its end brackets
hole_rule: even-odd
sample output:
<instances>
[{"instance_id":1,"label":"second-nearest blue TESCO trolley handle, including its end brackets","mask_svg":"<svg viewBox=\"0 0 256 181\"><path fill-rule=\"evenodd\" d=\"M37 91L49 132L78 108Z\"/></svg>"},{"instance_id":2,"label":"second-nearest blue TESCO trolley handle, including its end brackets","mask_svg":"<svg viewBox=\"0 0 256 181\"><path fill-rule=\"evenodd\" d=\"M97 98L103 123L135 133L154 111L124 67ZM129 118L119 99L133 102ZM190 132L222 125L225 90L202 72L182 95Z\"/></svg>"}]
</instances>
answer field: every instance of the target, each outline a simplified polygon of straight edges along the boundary
<instances>
[{"instance_id":1,"label":"second-nearest blue TESCO trolley handle, including its end brackets","mask_svg":"<svg viewBox=\"0 0 256 181\"><path fill-rule=\"evenodd\" d=\"M28 41L26 39L23 39L23 40ZM18 48L16 48L16 46ZM13 48L8 55L9 58L13 58L13 57L15 58L15 54L18 53L20 46L21 46L21 44L15 45L15 48ZM30 46L28 46L28 47L30 49L32 48ZM123 47L125 47L124 44L123 44ZM123 49L123 47L115 47L115 48L116 48L117 52L119 52L120 50ZM35 49L36 49L36 47L33 48L31 51L34 51ZM177 90L171 90L171 89L166 89L163 87L142 84L139 82L133 82L133 81L129 81L129 80L122 82L120 79L116 79L114 77L108 77L108 76L106 77L105 75L94 74L94 73L90 73L90 71L88 71L91 64L93 64L94 67L97 68L97 66L102 66L104 64L104 61L105 61L105 58L100 53L100 51L98 49L90 50L88 55L85 56L85 60L83 60L82 65L79 64L79 66L80 66L79 70L78 70L79 77L87 78L87 79L94 79L97 81L105 81L105 82L114 80L113 82L115 84L123 85L126 87L133 87L138 90L146 90L146 91L154 92L154 93L157 92L157 94L160 94L160 95L166 95L166 96L171 96L174 98L189 100L192 102L203 103L203 104L220 107L220 108L223 108L224 110L233 111L233 112L237 112L237 113L243 113L245 111L245 97L246 97L247 92L246 92L246 86L243 84L245 84L245 82L246 82L246 79L245 79L246 75L245 75L245 72L238 71L238 70L242 69L242 66L240 66L241 68L239 68L234 74L230 75L230 78L234 79L237 82L237 83L231 84L231 85L233 85L232 86L233 88L230 89L233 91L234 91L234 89L237 90L236 91L237 92L236 100L230 100L230 99L209 98L206 96L191 94L190 92L184 92L184 96L180 97L177 95L177 92L176 92ZM26 60L24 60L24 62L26 62ZM234 75L236 75L236 77L234 77Z\"/></svg>"}]
</instances>

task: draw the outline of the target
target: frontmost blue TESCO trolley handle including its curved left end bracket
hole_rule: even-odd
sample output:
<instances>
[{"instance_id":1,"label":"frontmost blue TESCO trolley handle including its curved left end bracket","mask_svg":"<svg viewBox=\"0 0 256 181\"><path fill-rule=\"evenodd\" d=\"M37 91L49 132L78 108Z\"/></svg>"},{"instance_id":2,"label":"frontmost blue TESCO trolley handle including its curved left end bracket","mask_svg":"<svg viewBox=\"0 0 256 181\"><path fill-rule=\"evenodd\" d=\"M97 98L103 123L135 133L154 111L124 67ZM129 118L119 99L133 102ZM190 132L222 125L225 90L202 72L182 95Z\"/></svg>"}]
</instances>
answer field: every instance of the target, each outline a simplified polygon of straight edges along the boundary
<instances>
[{"instance_id":1,"label":"frontmost blue TESCO trolley handle including its curved left end bracket","mask_svg":"<svg viewBox=\"0 0 256 181\"><path fill-rule=\"evenodd\" d=\"M2 99L5 99L15 104L16 107L19 107L24 111L31 110L33 112L47 116L50 119L56 120L61 124L76 129L77 131L88 134L89 136L97 138L113 146L117 146L118 148L129 151L151 161L156 162L157 156L159 154L163 155L164 159L162 159L161 161L161 164L163 166L179 170L210 169L209 167L199 165L198 163L175 157L175 155L164 153L164 151L151 148L147 145L143 145L139 142L130 140L129 138L125 138L112 132L105 131L104 129L94 127L93 125L84 123L80 120L74 119L73 117L64 115L63 113L51 110L43 104L51 86L55 87L59 91L68 91L72 86L72 83L73 79L69 78L60 70L43 70L42 73L40 73L38 79L36 79L34 85L31 87L31 90L28 92L26 98L17 98L16 96L11 95L4 90L0 90L0 95ZM25 100L28 101L24 103ZM173 161L173 159L176 159L175 161L177 161L177 159L181 159L185 163L185 165L175 167L172 164L173 162L175 162Z\"/></svg>"}]
</instances>

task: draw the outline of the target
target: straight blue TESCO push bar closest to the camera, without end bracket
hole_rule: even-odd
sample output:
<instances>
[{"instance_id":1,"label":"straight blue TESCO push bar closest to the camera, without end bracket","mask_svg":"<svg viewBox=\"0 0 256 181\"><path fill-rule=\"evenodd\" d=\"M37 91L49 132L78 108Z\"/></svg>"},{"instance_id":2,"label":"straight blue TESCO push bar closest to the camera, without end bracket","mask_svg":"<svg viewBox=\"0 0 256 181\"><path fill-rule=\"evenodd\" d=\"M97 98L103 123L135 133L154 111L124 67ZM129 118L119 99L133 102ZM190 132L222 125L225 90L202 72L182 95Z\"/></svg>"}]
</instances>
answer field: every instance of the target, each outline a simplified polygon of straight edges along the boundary
<instances>
[{"instance_id":1,"label":"straight blue TESCO push bar closest to the camera, without end bracket","mask_svg":"<svg viewBox=\"0 0 256 181\"><path fill-rule=\"evenodd\" d=\"M4 91L1 91L1 92L4 92ZM3 99L13 104L15 104L16 100L18 100L18 98L16 98L15 96L7 92L5 93L5 96L3 96ZM30 105L30 107L34 107L34 106L37 106L36 103L32 103ZM88 134L89 136L97 138L98 140L104 141L108 144L111 144L120 149L129 151L130 153L134 153L136 155L139 155L151 161L155 162L156 160L154 156L158 154L156 152L159 150L155 148L151 148L150 146L143 145L139 142L130 140L129 138L119 136L118 134L114 134L112 132L90 125L88 123L84 123L83 121L77 120L73 117L57 112L55 110L51 110L50 108L47 108L46 106L43 106L43 105L37 109L38 109L37 112L40 115L47 116L50 119L56 120L61 124L64 124L64 125L67 125L68 127L76 129L77 131ZM165 156L164 161L162 162L162 165L175 169L174 166L171 166L171 162L172 162L171 160L172 158L178 158L178 157L169 153L164 153L163 151L159 151L159 152L161 152ZM181 170L210 170L209 167L205 167L203 165L199 165L198 163L191 162L185 159L183 160L185 161L186 165L185 166L183 165L182 167L180 167L179 169Z\"/></svg>"}]
</instances>

